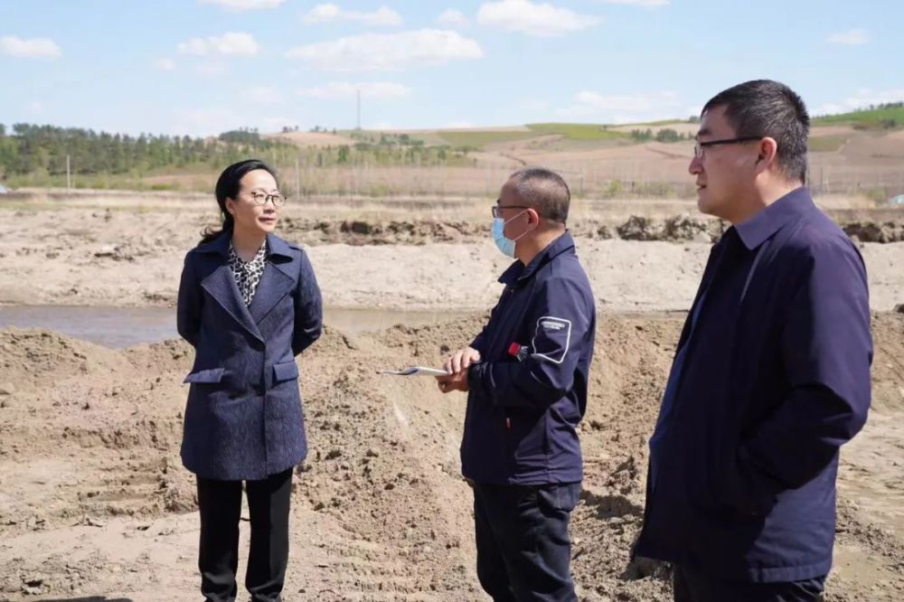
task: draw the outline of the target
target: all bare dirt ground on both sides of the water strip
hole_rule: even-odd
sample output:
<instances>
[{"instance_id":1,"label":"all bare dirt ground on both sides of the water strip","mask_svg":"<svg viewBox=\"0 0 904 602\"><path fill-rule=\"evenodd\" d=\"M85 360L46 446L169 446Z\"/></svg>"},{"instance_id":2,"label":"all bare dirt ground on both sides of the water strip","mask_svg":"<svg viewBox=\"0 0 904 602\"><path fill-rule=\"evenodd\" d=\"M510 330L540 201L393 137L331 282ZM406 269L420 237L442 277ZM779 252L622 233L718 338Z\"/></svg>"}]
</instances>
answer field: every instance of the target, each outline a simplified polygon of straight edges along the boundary
<instances>
[{"instance_id":1,"label":"all bare dirt ground on both sides of the water strip","mask_svg":"<svg viewBox=\"0 0 904 602\"><path fill-rule=\"evenodd\" d=\"M479 329L507 265L488 242L491 202L287 207L281 233L307 245L327 305L468 313L372 334L327 329L299 358L311 452L294 486L287 600L485 599L459 476L464 397L375 371L437 363ZM820 202L868 240L902 222L856 200ZM628 567L628 549L683 320L664 312L690 304L720 224L683 201L576 203L574 216L601 315L574 575L581 599L664 600L667 570ZM215 214L206 195L97 193L20 199L0 217L0 304L140 307L172 306L184 252ZM843 450L827 599L899 601L904 315L889 310L904 303L904 242L861 249L878 312L875 401ZM178 456L191 362L181 342L111 350L0 330L0 600L197 598L193 480Z\"/></svg>"}]
</instances>

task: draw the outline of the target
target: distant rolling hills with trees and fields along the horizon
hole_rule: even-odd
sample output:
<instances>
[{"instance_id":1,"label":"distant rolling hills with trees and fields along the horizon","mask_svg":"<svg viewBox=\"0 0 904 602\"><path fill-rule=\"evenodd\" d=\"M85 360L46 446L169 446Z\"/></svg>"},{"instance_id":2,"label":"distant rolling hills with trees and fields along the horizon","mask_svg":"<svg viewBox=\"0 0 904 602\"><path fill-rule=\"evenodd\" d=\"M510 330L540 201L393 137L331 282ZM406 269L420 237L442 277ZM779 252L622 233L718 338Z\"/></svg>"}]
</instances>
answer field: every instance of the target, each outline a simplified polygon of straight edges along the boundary
<instances>
[{"instance_id":1,"label":"distant rolling hills with trees and fields along the horizon","mask_svg":"<svg viewBox=\"0 0 904 602\"><path fill-rule=\"evenodd\" d=\"M812 123L813 165L826 190L867 190L877 198L904 192L904 102L818 116ZM684 189L674 186L684 185L698 128L690 118L417 130L317 127L263 135L240 129L191 138L0 124L0 181L12 189L207 191L224 165L258 156L306 194L452 193L471 191L473 182L486 192L491 170L506 174L517 165L542 164L578 174L581 193L612 196L627 186L634 194L680 195Z\"/></svg>"}]
</instances>

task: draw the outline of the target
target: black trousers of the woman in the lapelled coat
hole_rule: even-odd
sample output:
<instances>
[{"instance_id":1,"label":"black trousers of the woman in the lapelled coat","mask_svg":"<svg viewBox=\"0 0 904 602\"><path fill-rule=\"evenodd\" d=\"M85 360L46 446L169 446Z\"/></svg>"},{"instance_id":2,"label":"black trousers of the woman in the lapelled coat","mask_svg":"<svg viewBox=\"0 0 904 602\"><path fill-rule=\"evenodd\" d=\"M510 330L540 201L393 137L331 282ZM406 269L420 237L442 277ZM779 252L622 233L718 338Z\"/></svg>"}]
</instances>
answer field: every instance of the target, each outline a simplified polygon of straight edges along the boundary
<instances>
[{"instance_id":1,"label":"black trousers of the woman in the lapelled coat","mask_svg":"<svg viewBox=\"0 0 904 602\"><path fill-rule=\"evenodd\" d=\"M245 587L255 602L280 600L288 563L288 513L292 469L261 481L246 481L251 543ZM235 600L239 566L241 481L198 477L201 511L201 593L210 602Z\"/></svg>"}]
</instances>

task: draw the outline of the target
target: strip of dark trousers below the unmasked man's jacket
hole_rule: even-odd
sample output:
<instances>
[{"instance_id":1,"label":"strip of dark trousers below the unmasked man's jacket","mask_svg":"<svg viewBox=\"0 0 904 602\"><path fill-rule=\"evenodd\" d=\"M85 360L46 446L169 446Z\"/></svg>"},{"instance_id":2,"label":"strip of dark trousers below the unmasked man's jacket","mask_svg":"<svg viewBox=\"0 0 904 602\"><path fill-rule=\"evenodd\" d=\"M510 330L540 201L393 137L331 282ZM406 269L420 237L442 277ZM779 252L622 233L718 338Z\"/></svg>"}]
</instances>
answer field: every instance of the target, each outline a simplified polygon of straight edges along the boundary
<instances>
[{"instance_id":1,"label":"strip of dark trousers below the unmasked man's jacket","mask_svg":"<svg viewBox=\"0 0 904 602\"><path fill-rule=\"evenodd\" d=\"M825 577L785 583L751 583L703 577L682 566L673 566L675 602L819 602Z\"/></svg>"}]
</instances>

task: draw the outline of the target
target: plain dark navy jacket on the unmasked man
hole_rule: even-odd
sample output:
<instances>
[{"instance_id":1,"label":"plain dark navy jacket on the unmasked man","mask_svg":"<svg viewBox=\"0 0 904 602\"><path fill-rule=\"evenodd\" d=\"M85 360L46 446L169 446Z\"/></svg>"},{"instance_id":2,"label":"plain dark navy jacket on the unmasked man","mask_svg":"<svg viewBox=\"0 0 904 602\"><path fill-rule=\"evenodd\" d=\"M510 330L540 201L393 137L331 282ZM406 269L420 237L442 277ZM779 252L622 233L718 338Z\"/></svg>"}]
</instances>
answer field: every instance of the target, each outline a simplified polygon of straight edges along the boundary
<instances>
[{"instance_id":1,"label":"plain dark navy jacket on the unmasked man","mask_svg":"<svg viewBox=\"0 0 904 602\"><path fill-rule=\"evenodd\" d=\"M838 449L866 421L866 270L803 187L726 231L654 436L640 556L712 578L828 573Z\"/></svg>"}]
</instances>

